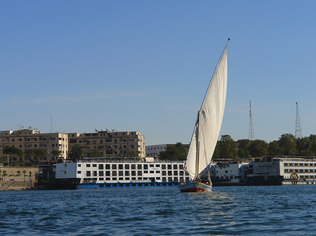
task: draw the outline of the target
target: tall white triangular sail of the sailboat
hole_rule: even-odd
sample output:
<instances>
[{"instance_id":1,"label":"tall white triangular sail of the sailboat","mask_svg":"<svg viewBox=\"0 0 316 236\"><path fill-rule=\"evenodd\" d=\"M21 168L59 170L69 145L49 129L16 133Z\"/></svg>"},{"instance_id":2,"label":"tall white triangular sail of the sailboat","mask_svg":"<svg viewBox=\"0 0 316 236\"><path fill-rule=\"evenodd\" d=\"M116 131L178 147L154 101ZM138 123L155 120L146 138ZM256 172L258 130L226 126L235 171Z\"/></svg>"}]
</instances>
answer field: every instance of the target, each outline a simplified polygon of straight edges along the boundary
<instances>
[{"instance_id":1,"label":"tall white triangular sail of the sailboat","mask_svg":"<svg viewBox=\"0 0 316 236\"><path fill-rule=\"evenodd\" d=\"M201 106L199 116L199 139L197 139L198 124L190 142L187 153L185 170L191 178L195 178L211 162L213 152L218 140L218 134L222 125L227 90L227 47L218 63L218 67L213 74L209 90L206 92ZM196 168L197 162L197 140L199 140L199 169Z\"/></svg>"}]
</instances>

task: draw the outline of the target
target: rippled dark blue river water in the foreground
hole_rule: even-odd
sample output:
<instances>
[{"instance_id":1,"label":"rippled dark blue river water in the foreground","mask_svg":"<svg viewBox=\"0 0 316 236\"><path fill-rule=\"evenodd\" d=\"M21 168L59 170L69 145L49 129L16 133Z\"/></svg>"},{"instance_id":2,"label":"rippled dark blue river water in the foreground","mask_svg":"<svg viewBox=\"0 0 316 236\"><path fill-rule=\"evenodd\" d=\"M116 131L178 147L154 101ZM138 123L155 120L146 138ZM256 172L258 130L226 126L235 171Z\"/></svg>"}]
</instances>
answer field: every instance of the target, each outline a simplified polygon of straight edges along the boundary
<instances>
[{"instance_id":1,"label":"rippled dark blue river water in the foreground","mask_svg":"<svg viewBox=\"0 0 316 236\"><path fill-rule=\"evenodd\" d=\"M315 235L316 186L11 191L0 235Z\"/></svg>"}]
</instances>

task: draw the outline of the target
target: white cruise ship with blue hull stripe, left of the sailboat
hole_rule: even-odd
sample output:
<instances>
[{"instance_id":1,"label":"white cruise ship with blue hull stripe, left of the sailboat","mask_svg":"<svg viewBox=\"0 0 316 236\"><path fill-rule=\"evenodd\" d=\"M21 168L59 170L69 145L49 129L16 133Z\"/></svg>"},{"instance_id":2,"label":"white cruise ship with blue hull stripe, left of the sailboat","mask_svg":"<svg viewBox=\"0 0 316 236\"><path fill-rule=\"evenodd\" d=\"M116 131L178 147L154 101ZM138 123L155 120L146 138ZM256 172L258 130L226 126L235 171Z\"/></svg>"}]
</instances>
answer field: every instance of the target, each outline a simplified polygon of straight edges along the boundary
<instances>
[{"instance_id":1,"label":"white cruise ship with blue hull stripe, left of the sailboat","mask_svg":"<svg viewBox=\"0 0 316 236\"><path fill-rule=\"evenodd\" d=\"M83 188L178 186L184 161L139 161L132 158L98 158L56 164L55 179ZM188 176L184 176L188 180Z\"/></svg>"}]
</instances>

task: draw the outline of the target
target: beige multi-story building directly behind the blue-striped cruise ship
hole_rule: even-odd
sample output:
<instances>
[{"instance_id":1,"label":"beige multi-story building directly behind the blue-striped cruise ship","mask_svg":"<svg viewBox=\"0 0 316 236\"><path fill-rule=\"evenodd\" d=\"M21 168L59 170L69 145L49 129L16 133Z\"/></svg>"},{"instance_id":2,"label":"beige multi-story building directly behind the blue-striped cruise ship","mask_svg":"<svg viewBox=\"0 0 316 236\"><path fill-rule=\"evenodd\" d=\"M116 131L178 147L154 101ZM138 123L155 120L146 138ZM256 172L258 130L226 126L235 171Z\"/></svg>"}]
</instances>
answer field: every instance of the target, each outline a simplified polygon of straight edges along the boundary
<instances>
[{"instance_id":1,"label":"beige multi-story building directly behind the blue-striped cruise ship","mask_svg":"<svg viewBox=\"0 0 316 236\"><path fill-rule=\"evenodd\" d=\"M109 132L96 131L94 133L68 134L69 148L79 144L83 150L83 157L87 158L93 150L103 153L104 156L136 155L145 158L145 137L140 132Z\"/></svg>"}]
</instances>

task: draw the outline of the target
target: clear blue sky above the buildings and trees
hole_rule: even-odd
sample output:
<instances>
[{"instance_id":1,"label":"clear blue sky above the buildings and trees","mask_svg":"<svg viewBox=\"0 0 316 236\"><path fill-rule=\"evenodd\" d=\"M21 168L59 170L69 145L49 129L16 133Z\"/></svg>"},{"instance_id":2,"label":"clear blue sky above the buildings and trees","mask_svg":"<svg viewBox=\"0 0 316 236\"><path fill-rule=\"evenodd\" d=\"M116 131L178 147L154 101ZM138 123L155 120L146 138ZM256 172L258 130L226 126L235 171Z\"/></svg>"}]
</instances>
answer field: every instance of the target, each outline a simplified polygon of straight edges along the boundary
<instances>
[{"instance_id":1,"label":"clear blue sky above the buildings and trees","mask_svg":"<svg viewBox=\"0 0 316 236\"><path fill-rule=\"evenodd\" d=\"M0 1L0 130L188 144L225 43L220 134L316 134L316 1Z\"/></svg>"}]
</instances>

